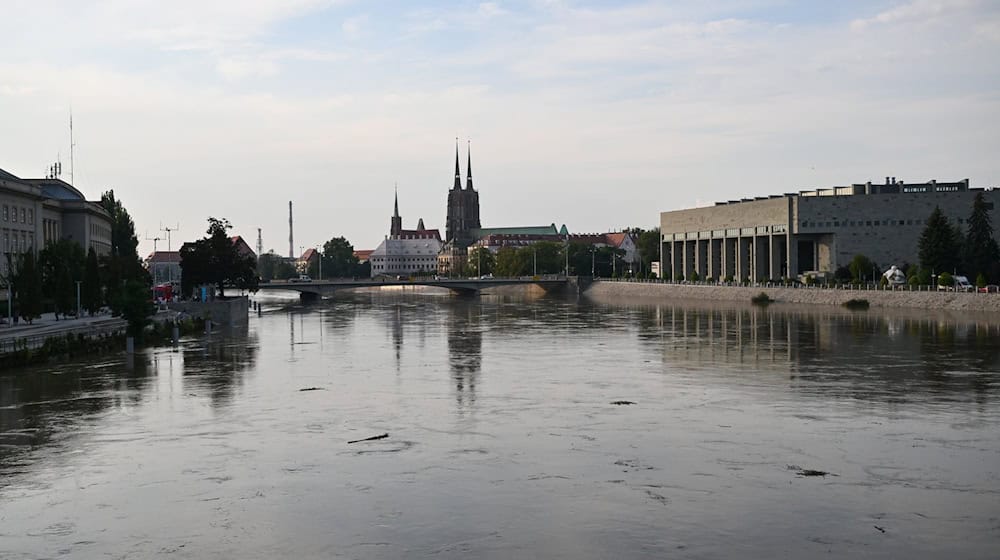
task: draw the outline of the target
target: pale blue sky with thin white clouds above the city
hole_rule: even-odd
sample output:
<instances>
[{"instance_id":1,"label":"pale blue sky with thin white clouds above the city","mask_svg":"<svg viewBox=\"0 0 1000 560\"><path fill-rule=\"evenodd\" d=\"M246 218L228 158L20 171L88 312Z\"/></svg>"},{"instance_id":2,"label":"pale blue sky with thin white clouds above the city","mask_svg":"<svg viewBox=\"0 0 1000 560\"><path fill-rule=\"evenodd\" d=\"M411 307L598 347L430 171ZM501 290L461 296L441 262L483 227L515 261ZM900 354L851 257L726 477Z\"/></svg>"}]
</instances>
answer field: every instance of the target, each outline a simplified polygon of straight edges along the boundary
<instances>
[{"instance_id":1,"label":"pale blue sky with thin white clouds above the city","mask_svg":"<svg viewBox=\"0 0 1000 560\"><path fill-rule=\"evenodd\" d=\"M265 250L654 227L717 200L1000 186L995 0L0 0L0 168L114 189L140 253L209 216ZM156 243L165 249L166 241Z\"/></svg>"}]
</instances>

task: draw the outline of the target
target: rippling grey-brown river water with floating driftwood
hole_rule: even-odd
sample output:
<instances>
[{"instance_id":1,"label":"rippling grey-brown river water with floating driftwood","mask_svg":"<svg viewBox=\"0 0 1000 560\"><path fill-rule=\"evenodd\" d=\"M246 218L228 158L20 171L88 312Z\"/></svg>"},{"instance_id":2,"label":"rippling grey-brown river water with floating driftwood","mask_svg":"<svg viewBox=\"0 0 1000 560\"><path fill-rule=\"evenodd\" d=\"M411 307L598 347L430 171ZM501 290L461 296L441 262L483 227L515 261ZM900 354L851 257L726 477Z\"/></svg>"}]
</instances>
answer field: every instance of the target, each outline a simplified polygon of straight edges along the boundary
<instances>
[{"instance_id":1,"label":"rippling grey-brown river water with floating driftwood","mask_svg":"<svg viewBox=\"0 0 1000 560\"><path fill-rule=\"evenodd\" d=\"M0 558L997 558L998 372L989 318L271 300L0 371Z\"/></svg>"}]
</instances>

